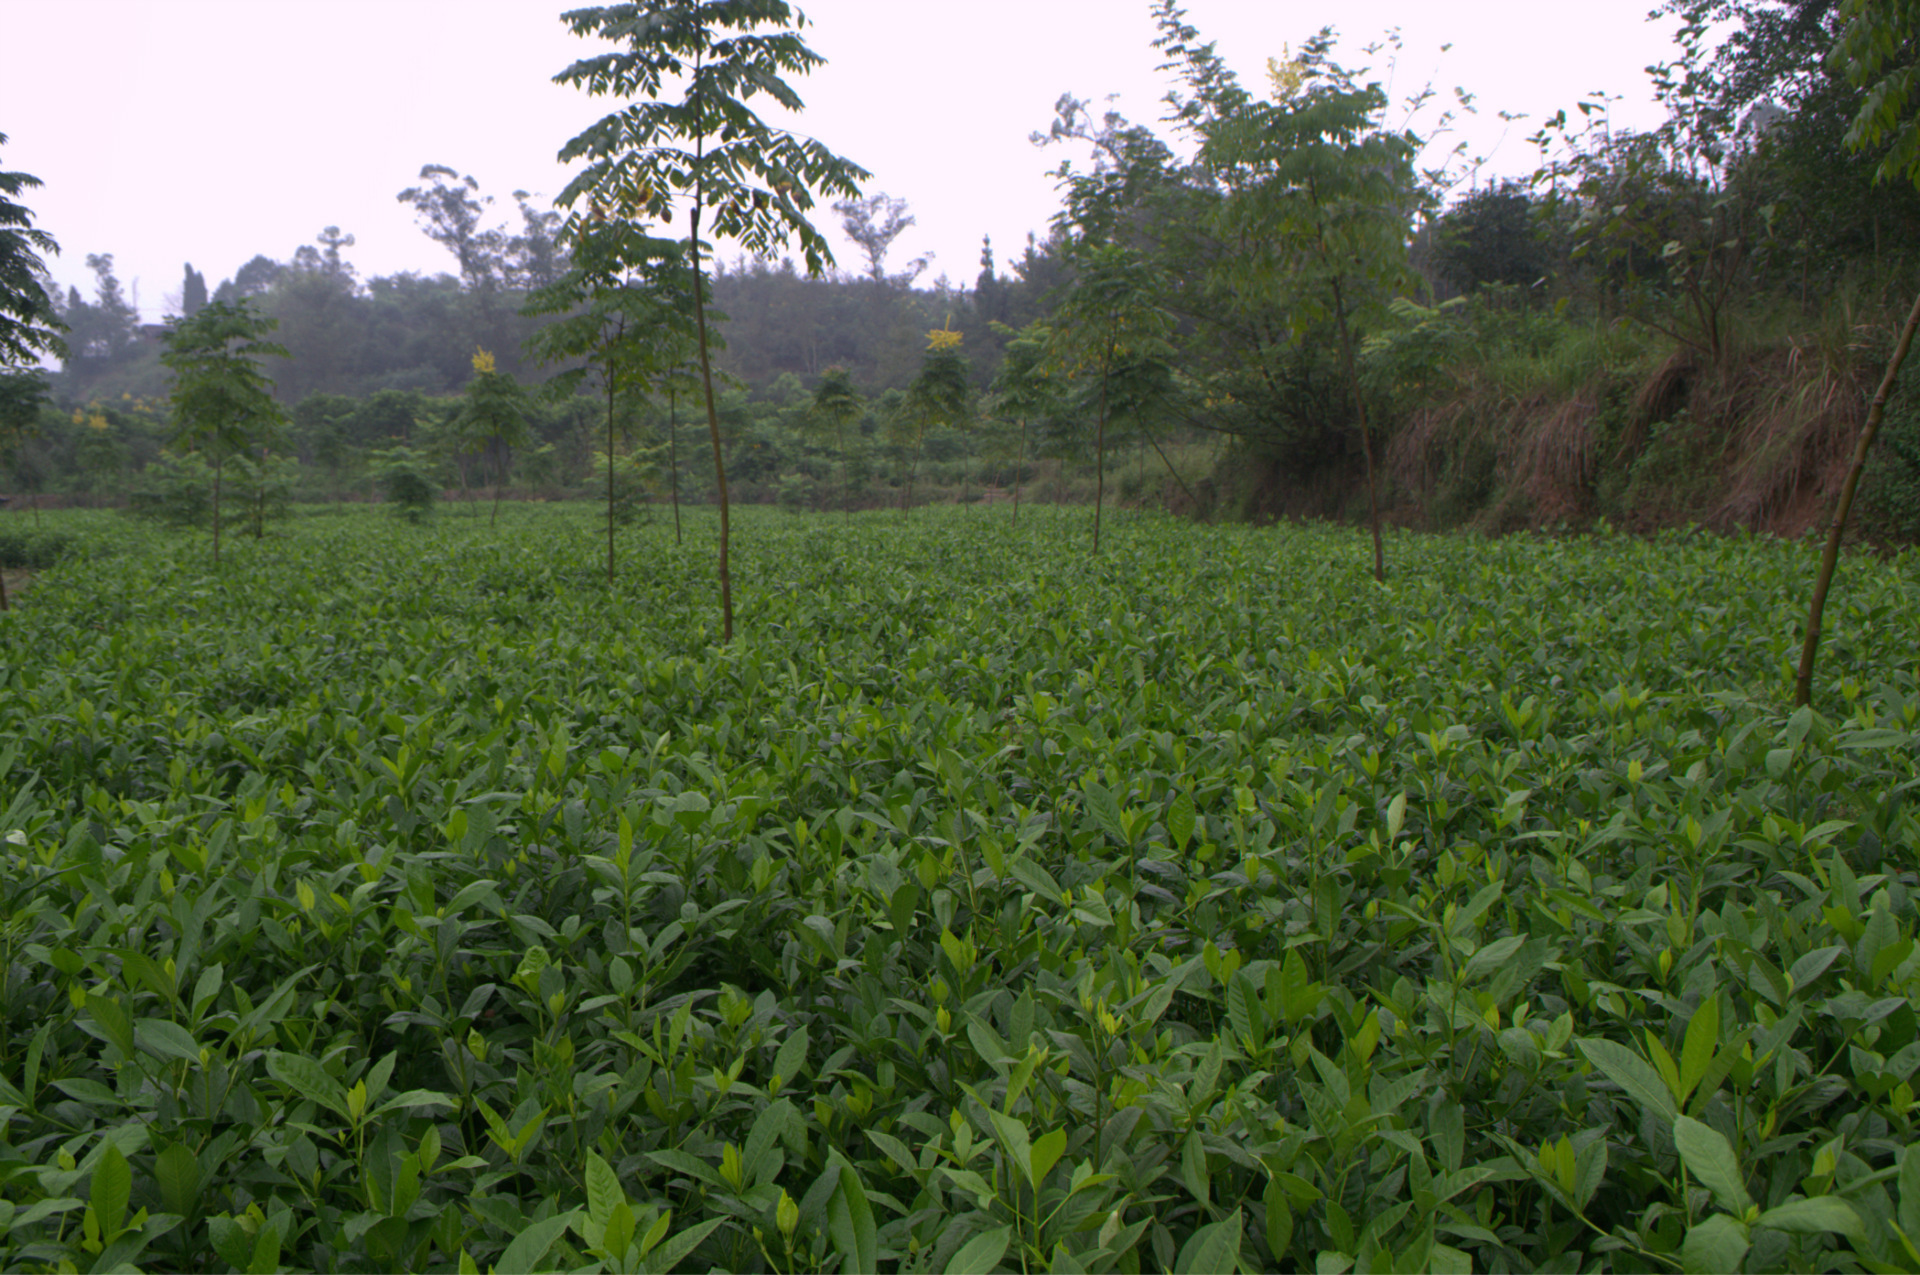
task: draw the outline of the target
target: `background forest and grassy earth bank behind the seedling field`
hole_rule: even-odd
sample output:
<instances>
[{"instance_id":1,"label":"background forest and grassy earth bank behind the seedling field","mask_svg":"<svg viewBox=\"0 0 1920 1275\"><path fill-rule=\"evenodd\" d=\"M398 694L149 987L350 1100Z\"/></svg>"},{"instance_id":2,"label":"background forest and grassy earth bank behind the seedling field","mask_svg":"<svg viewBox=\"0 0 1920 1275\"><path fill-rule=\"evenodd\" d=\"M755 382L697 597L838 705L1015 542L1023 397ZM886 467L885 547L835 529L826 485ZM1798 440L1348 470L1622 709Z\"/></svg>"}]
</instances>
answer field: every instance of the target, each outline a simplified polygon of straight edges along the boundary
<instances>
[{"instance_id":1,"label":"background forest and grassy earth bank behind the seedling field","mask_svg":"<svg viewBox=\"0 0 1920 1275\"><path fill-rule=\"evenodd\" d=\"M983 242L972 282L893 257L912 209L885 194L833 207L864 261L822 277L716 261L735 495L860 507L1020 486L1361 518L1371 474L1382 517L1407 526L1805 530L1920 280L1920 196L1843 146L1862 90L1826 63L1832 0L1665 12L1684 19L1655 67L1665 127L1611 129L1607 102L1586 100L1532 138L1530 179L1480 180L1434 144L1438 100L1388 100L1325 35L1250 84L1158 6L1165 117L1062 98L1033 136L1062 209L1016 253ZM257 480L282 499L365 497L399 449L444 490L588 490L607 472L607 405L549 380L576 365L534 355L557 315L528 305L572 265L561 215L442 165L399 200L453 271L361 278L336 227L211 286L182 269L179 315L250 300L278 321L286 357L267 371L290 424L263 440ZM4 480L157 509L200 482L167 451L163 326L138 325L111 253L86 263L94 294L56 298L67 357L36 409L12 409ZM524 434L468 428L476 353L547 386L524 399ZM935 401L929 376L964 386ZM685 407L672 376L618 396L616 467L637 499L710 497ZM1880 438L1864 526L1908 540L1920 419L1905 397ZM1119 457L1112 486L1096 451Z\"/></svg>"}]
</instances>

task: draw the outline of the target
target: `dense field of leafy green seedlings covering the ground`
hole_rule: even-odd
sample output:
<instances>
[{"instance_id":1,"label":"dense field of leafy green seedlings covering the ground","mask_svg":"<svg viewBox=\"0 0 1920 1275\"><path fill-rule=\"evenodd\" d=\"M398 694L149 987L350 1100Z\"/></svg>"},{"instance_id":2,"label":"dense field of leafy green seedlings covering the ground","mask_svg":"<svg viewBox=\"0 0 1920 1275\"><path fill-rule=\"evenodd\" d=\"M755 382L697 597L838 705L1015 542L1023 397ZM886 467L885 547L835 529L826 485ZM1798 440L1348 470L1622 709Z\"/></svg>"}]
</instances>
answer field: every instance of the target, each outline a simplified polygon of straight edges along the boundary
<instances>
[{"instance_id":1,"label":"dense field of leafy green seedlings covering the ground","mask_svg":"<svg viewBox=\"0 0 1920 1275\"><path fill-rule=\"evenodd\" d=\"M0 1267L1920 1269L1912 555L1085 520L60 517Z\"/></svg>"}]
</instances>

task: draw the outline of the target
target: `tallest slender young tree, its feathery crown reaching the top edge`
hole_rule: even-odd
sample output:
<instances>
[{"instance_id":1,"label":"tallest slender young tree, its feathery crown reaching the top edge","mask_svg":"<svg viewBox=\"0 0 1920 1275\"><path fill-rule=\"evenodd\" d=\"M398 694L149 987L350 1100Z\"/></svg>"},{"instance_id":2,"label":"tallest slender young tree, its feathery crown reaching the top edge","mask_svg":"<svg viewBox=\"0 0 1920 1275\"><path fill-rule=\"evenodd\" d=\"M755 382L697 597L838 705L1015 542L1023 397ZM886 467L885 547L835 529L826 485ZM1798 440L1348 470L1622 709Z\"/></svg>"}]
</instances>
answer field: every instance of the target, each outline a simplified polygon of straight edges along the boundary
<instances>
[{"instance_id":1,"label":"tallest slender young tree, its feathery crown reaching the top edge","mask_svg":"<svg viewBox=\"0 0 1920 1275\"><path fill-rule=\"evenodd\" d=\"M814 192L852 198L868 173L755 111L753 100L762 94L787 111L804 109L787 77L822 63L801 38L806 19L785 0L636 0L572 10L561 21L614 48L582 58L555 81L622 98L624 106L561 150L563 161L584 167L559 202L572 207L601 200L662 223L676 215L676 204L685 207L701 392L720 501L720 636L732 641L732 520L701 232L710 219L716 238L732 238L753 255L772 255L797 240L806 271L822 275L833 253L808 219Z\"/></svg>"}]
</instances>

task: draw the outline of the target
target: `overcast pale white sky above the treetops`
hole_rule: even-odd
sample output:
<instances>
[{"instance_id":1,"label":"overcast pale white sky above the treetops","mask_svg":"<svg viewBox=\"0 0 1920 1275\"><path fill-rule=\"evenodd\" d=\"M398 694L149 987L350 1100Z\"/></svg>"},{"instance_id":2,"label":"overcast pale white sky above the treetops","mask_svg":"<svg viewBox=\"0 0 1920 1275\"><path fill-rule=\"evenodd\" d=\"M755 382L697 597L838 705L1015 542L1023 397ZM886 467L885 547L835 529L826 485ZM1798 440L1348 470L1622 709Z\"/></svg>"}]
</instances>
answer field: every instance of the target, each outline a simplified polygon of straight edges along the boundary
<instances>
[{"instance_id":1,"label":"overcast pale white sky above the treetops","mask_svg":"<svg viewBox=\"0 0 1920 1275\"><path fill-rule=\"evenodd\" d=\"M1361 46L1398 27L1396 98L1427 81L1475 94L1480 115L1465 136L1494 175L1530 171L1524 138L1538 121L1594 90L1622 94L1617 125L1657 123L1644 67L1670 40L1647 4L1188 0L1188 19L1254 83L1269 56L1323 25L1338 29L1348 63L1365 63ZM25 202L61 244L56 278L88 294L86 253L111 252L150 321L179 292L182 263L215 284L253 253L290 257L328 225L357 236L348 255L363 278L451 271L394 198L420 165L472 173L511 213L516 188L561 190L561 144L611 109L551 83L593 50L561 27L563 8L0 0L0 167L46 182ZM1060 152L1035 150L1027 134L1044 131L1062 92L1117 94L1117 109L1152 121L1167 88L1148 0L801 8L828 65L799 83L808 109L797 125L870 169L870 192L910 202L918 227L891 263L933 252L925 278L972 282L981 234L1002 269L1029 230L1044 234ZM1384 58L1375 67L1386 79ZM1507 129L1500 111L1528 119ZM860 265L851 248L839 257Z\"/></svg>"}]
</instances>

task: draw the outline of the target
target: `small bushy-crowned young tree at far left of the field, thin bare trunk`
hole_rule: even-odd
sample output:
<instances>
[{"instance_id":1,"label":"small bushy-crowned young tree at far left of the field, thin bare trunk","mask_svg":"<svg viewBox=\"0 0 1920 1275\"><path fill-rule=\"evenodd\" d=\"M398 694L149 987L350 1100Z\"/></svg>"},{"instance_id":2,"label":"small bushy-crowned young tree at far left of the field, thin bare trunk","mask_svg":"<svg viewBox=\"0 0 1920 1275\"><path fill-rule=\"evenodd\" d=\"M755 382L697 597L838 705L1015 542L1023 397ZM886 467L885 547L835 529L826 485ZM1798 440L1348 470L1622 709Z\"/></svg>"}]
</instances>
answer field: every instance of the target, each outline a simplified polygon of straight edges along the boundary
<instances>
[{"instance_id":1,"label":"small bushy-crowned young tree at far left of the field, thin bare trunk","mask_svg":"<svg viewBox=\"0 0 1920 1275\"><path fill-rule=\"evenodd\" d=\"M267 338L278 326L250 301L209 301L192 319L169 319L159 361L173 371L173 442L213 463L213 563L221 561L221 470L286 424L259 359L286 357Z\"/></svg>"}]
</instances>

